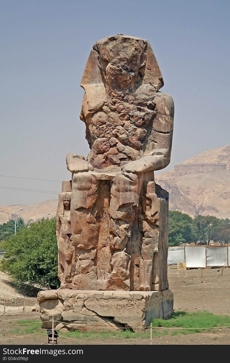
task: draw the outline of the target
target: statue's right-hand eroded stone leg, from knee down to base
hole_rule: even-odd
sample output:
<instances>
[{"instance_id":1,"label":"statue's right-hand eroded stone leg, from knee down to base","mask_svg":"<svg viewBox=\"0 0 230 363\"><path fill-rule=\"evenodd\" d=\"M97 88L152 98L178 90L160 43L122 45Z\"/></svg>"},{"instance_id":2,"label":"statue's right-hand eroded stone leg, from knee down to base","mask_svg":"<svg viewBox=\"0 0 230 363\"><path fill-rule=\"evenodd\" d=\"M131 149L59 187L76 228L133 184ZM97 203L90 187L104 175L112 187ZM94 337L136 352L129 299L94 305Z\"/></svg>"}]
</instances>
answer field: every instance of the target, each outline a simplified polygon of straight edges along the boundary
<instances>
[{"instance_id":1,"label":"statue's right-hand eroded stone leg, from knee down to base","mask_svg":"<svg viewBox=\"0 0 230 363\"><path fill-rule=\"evenodd\" d=\"M134 180L133 180L134 179ZM131 229L138 211L143 175L119 173L113 180L110 200L110 248L113 289L129 290Z\"/></svg>"}]
</instances>

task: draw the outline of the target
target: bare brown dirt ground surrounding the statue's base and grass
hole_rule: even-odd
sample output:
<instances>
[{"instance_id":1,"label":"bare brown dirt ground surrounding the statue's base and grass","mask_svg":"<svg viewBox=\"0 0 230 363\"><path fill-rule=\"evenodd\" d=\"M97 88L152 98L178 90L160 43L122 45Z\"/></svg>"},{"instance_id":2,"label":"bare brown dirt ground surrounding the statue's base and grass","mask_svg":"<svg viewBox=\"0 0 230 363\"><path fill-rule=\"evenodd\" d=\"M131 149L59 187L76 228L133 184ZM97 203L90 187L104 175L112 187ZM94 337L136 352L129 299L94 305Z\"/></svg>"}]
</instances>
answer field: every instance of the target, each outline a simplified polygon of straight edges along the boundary
<instances>
[{"instance_id":1,"label":"bare brown dirt ground surrounding the statue's base and grass","mask_svg":"<svg viewBox=\"0 0 230 363\"><path fill-rule=\"evenodd\" d=\"M219 270L219 272L218 272ZM230 268L223 269L203 269L179 271L177 277L177 268L168 267L169 288L174 293L174 310L185 310L187 312L209 311L214 314L230 315ZM0 304L3 298L0 290ZM16 294L16 293L15 293ZM205 301L204 301L205 295ZM16 296L15 296L16 297ZM14 297L14 298L15 298ZM47 332L45 329L39 328L34 333L17 335L13 329L14 326L5 324L13 324L18 320L39 319L39 313L31 311L31 306L37 305L36 297L25 297L26 309L22 311L23 296L19 296L15 301L20 303L20 312L17 311L13 302L11 302L11 310L6 310L7 314L3 315L3 305L0 305L0 344L46 344ZM205 303L205 306L204 306ZM74 338L76 339L76 338ZM85 340L85 341L83 341ZM106 338L106 339L90 339L79 338L73 340L69 338L58 338L59 344L150 344L149 338ZM216 328L211 331L188 335L165 335L164 337L153 338L153 344L230 344L230 329Z\"/></svg>"}]
</instances>

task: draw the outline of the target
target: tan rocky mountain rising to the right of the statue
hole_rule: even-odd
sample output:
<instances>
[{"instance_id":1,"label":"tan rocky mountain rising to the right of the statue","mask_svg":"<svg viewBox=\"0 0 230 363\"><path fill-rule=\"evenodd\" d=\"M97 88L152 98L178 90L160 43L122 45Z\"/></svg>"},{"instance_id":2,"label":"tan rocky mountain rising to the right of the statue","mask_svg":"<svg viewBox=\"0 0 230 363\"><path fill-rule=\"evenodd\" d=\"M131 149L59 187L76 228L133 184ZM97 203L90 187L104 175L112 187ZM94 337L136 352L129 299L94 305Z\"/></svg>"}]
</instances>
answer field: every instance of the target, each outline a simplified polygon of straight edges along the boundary
<instances>
[{"instance_id":1,"label":"tan rocky mountain rising to the right of the statue","mask_svg":"<svg viewBox=\"0 0 230 363\"><path fill-rule=\"evenodd\" d=\"M230 218L230 145L176 164L155 180L169 191L171 210Z\"/></svg>"}]
</instances>

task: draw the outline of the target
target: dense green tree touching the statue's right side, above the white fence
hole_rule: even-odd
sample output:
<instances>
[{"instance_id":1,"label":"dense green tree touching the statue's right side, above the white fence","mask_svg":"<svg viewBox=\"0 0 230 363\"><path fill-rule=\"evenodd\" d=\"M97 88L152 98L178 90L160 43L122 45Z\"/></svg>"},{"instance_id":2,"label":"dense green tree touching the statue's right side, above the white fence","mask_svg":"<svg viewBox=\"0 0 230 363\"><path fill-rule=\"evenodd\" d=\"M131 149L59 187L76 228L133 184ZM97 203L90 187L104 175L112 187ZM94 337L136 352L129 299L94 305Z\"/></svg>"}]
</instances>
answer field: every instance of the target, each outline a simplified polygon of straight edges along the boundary
<instances>
[{"instance_id":1,"label":"dense green tree touching the statue's right side, above the white fence","mask_svg":"<svg viewBox=\"0 0 230 363\"><path fill-rule=\"evenodd\" d=\"M191 243L194 237L193 219L186 213L169 211L169 246Z\"/></svg>"}]
</instances>

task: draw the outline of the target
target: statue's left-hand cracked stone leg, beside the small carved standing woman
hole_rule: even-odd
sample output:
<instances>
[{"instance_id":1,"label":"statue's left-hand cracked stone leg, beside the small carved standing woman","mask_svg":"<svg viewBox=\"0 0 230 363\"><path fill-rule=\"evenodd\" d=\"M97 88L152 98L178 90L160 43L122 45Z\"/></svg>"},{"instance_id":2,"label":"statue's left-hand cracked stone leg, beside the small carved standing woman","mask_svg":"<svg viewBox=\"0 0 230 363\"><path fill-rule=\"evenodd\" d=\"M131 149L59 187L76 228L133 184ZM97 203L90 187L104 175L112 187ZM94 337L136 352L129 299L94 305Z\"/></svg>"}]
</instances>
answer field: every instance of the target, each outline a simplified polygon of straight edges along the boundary
<instances>
[{"instance_id":1,"label":"statue's left-hand cracked stone leg, beside the small carved standing woman","mask_svg":"<svg viewBox=\"0 0 230 363\"><path fill-rule=\"evenodd\" d=\"M90 278L93 280L96 280L97 275L98 225L94 207L97 191L98 180L93 174L82 172L73 175L70 222L76 254L76 275L91 273Z\"/></svg>"}]
</instances>

